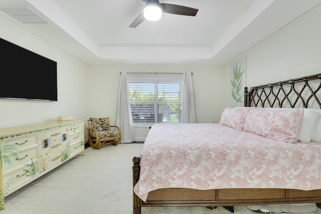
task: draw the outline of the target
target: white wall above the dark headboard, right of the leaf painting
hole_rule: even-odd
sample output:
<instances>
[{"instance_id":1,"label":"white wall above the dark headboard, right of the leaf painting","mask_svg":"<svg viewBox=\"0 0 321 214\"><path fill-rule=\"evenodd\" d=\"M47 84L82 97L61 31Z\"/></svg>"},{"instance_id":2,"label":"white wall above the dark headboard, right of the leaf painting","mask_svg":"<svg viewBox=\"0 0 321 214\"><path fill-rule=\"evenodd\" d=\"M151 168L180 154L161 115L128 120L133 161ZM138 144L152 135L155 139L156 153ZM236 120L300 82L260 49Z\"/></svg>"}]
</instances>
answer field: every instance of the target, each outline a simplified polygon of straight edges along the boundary
<instances>
[{"instance_id":1,"label":"white wall above the dark headboard, right of the leaf painting","mask_svg":"<svg viewBox=\"0 0 321 214\"><path fill-rule=\"evenodd\" d=\"M248 87L321 73L321 5L240 56Z\"/></svg>"}]
</instances>

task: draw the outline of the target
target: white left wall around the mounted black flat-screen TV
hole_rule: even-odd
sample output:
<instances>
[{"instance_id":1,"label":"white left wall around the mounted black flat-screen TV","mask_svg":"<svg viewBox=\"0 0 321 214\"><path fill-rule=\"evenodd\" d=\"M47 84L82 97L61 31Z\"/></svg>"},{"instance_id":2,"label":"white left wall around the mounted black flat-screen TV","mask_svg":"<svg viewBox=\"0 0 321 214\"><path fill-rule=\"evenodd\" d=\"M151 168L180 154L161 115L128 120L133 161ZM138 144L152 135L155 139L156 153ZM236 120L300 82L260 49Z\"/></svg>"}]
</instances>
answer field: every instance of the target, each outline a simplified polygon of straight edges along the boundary
<instances>
[{"instance_id":1,"label":"white left wall around the mounted black flat-screen TV","mask_svg":"<svg viewBox=\"0 0 321 214\"><path fill-rule=\"evenodd\" d=\"M86 119L89 106L87 65L5 18L0 17L0 26L1 38L56 61L58 70L58 102L0 99L0 128L54 121L57 116ZM6 69L1 68L1 72ZM18 90L23 89L18 87Z\"/></svg>"}]
</instances>

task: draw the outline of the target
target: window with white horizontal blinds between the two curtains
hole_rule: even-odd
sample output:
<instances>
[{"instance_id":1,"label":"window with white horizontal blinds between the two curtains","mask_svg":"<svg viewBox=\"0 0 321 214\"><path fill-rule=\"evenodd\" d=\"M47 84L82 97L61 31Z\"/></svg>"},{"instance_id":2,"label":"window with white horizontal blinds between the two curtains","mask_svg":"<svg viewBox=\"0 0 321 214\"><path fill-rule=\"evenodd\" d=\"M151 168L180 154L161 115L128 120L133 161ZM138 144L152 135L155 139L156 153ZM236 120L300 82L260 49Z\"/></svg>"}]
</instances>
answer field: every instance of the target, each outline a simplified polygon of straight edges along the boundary
<instances>
[{"instance_id":1,"label":"window with white horizontal blinds between the two curtains","mask_svg":"<svg viewBox=\"0 0 321 214\"><path fill-rule=\"evenodd\" d=\"M181 74L128 74L133 123L179 123L183 80Z\"/></svg>"}]
</instances>

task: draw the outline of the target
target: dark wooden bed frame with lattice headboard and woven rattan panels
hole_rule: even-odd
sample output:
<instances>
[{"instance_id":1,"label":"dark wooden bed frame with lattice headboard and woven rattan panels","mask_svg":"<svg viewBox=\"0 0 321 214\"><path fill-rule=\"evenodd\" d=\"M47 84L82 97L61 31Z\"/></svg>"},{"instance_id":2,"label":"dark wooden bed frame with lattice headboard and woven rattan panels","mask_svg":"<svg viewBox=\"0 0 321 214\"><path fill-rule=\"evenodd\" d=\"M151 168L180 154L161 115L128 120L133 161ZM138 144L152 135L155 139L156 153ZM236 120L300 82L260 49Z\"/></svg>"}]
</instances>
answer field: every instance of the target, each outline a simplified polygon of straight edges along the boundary
<instances>
[{"instance_id":1,"label":"dark wooden bed frame with lattice headboard and woven rattan panels","mask_svg":"<svg viewBox=\"0 0 321 214\"><path fill-rule=\"evenodd\" d=\"M315 86L316 85L316 86ZM252 87L244 91L244 106L321 108L321 74ZM141 154L140 154L141 156ZM140 156L133 157L133 186L139 180ZM321 187L320 187L321 188ZM146 202L133 192L133 213L144 206L233 206L286 203L320 203L321 189L230 188L198 190L164 188L148 193ZM318 205L318 204L317 204Z\"/></svg>"}]
</instances>

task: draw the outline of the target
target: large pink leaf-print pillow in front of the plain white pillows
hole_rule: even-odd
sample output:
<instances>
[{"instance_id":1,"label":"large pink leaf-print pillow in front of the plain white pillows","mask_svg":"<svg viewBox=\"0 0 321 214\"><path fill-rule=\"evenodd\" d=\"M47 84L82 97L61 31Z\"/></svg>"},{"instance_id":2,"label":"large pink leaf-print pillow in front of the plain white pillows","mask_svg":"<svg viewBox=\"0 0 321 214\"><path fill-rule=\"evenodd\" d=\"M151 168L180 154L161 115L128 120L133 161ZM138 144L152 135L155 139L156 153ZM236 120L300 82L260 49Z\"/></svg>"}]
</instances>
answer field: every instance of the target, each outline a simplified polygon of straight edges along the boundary
<instances>
[{"instance_id":1,"label":"large pink leaf-print pillow in front of the plain white pillows","mask_svg":"<svg viewBox=\"0 0 321 214\"><path fill-rule=\"evenodd\" d=\"M273 140L297 142L303 109L270 110L252 108L245 120L243 131Z\"/></svg>"}]
</instances>

